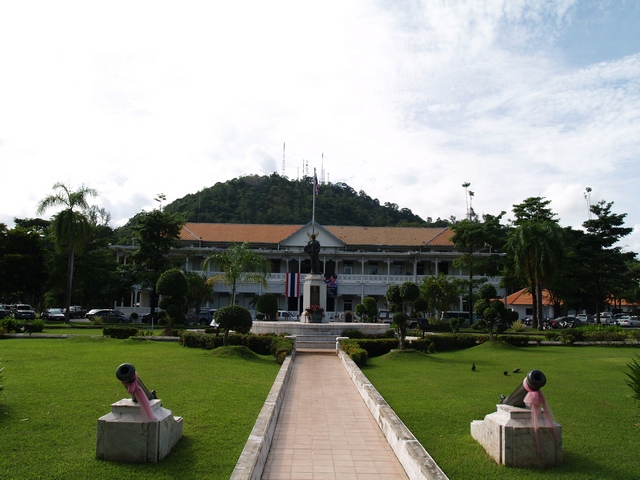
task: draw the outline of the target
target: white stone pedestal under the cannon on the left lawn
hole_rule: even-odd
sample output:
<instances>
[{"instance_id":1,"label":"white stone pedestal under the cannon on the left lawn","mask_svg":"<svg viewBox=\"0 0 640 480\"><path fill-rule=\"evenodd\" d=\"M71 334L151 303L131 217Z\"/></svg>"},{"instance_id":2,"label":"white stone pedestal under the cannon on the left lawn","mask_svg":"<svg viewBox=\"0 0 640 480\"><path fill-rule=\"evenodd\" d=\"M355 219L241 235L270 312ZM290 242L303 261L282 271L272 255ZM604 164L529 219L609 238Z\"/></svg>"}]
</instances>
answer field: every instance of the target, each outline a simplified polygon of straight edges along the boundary
<instances>
[{"instance_id":1,"label":"white stone pedestal under the cannon on the left lawn","mask_svg":"<svg viewBox=\"0 0 640 480\"><path fill-rule=\"evenodd\" d=\"M156 463L166 457L182 437L182 417L151 400L158 421L147 421L130 398L111 404L111 413L98 419L96 457L101 460Z\"/></svg>"}]
</instances>

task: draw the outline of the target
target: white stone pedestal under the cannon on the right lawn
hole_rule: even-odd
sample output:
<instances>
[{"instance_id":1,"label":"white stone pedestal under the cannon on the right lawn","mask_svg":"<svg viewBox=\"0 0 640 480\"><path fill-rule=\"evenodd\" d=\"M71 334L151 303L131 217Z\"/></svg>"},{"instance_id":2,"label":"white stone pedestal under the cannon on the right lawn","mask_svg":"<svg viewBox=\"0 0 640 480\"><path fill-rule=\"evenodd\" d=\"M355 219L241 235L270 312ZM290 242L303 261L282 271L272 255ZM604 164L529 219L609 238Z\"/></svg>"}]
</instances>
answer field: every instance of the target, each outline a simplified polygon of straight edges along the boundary
<instances>
[{"instance_id":1,"label":"white stone pedestal under the cannon on the right lawn","mask_svg":"<svg viewBox=\"0 0 640 480\"><path fill-rule=\"evenodd\" d=\"M495 413L471 422L471 436L500 465L545 468L562 464L562 427L553 426L558 441L553 427L540 427L538 452L531 410L499 404Z\"/></svg>"}]
</instances>

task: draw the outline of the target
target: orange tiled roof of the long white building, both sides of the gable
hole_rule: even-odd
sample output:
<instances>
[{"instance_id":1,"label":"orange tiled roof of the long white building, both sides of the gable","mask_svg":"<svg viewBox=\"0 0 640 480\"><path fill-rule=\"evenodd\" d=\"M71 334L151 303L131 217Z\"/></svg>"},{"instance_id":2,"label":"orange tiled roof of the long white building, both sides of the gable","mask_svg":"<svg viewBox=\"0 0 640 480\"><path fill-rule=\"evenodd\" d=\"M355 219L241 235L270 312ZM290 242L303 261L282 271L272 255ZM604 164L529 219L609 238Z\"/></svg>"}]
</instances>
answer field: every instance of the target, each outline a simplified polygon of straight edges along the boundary
<instances>
[{"instance_id":1,"label":"orange tiled roof of the long white building, both sides of the gable","mask_svg":"<svg viewBox=\"0 0 640 480\"><path fill-rule=\"evenodd\" d=\"M187 223L180 240L218 243L278 244L304 225ZM448 228L323 226L347 245L453 246Z\"/></svg>"}]
</instances>

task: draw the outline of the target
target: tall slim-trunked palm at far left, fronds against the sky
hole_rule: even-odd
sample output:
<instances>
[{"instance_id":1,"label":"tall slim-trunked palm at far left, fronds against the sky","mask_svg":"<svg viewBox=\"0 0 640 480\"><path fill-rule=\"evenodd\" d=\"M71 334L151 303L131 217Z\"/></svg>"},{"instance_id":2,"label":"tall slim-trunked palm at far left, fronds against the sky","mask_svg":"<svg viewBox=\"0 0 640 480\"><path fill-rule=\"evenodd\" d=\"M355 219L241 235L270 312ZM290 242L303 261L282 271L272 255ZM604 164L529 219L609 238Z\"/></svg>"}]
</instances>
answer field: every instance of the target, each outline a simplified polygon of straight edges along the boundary
<instances>
[{"instance_id":1,"label":"tall slim-trunked palm at far left, fronds against the sky","mask_svg":"<svg viewBox=\"0 0 640 480\"><path fill-rule=\"evenodd\" d=\"M64 183L58 182L53 186L54 194L45 197L38 205L38 215L42 215L48 208L63 207L62 211L54 215L51 222L56 249L61 251L66 245L69 247L69 262L67 266L67 305L65 321L69 322L69 308L71 307L71 287L73 285L73 262L76 251L82 253L85 241L91 232L89 213L91 207L87 203L88 197L95 197L98 192L93 188L80 186L78 190Z\"/></svg>"}]
</instances>

